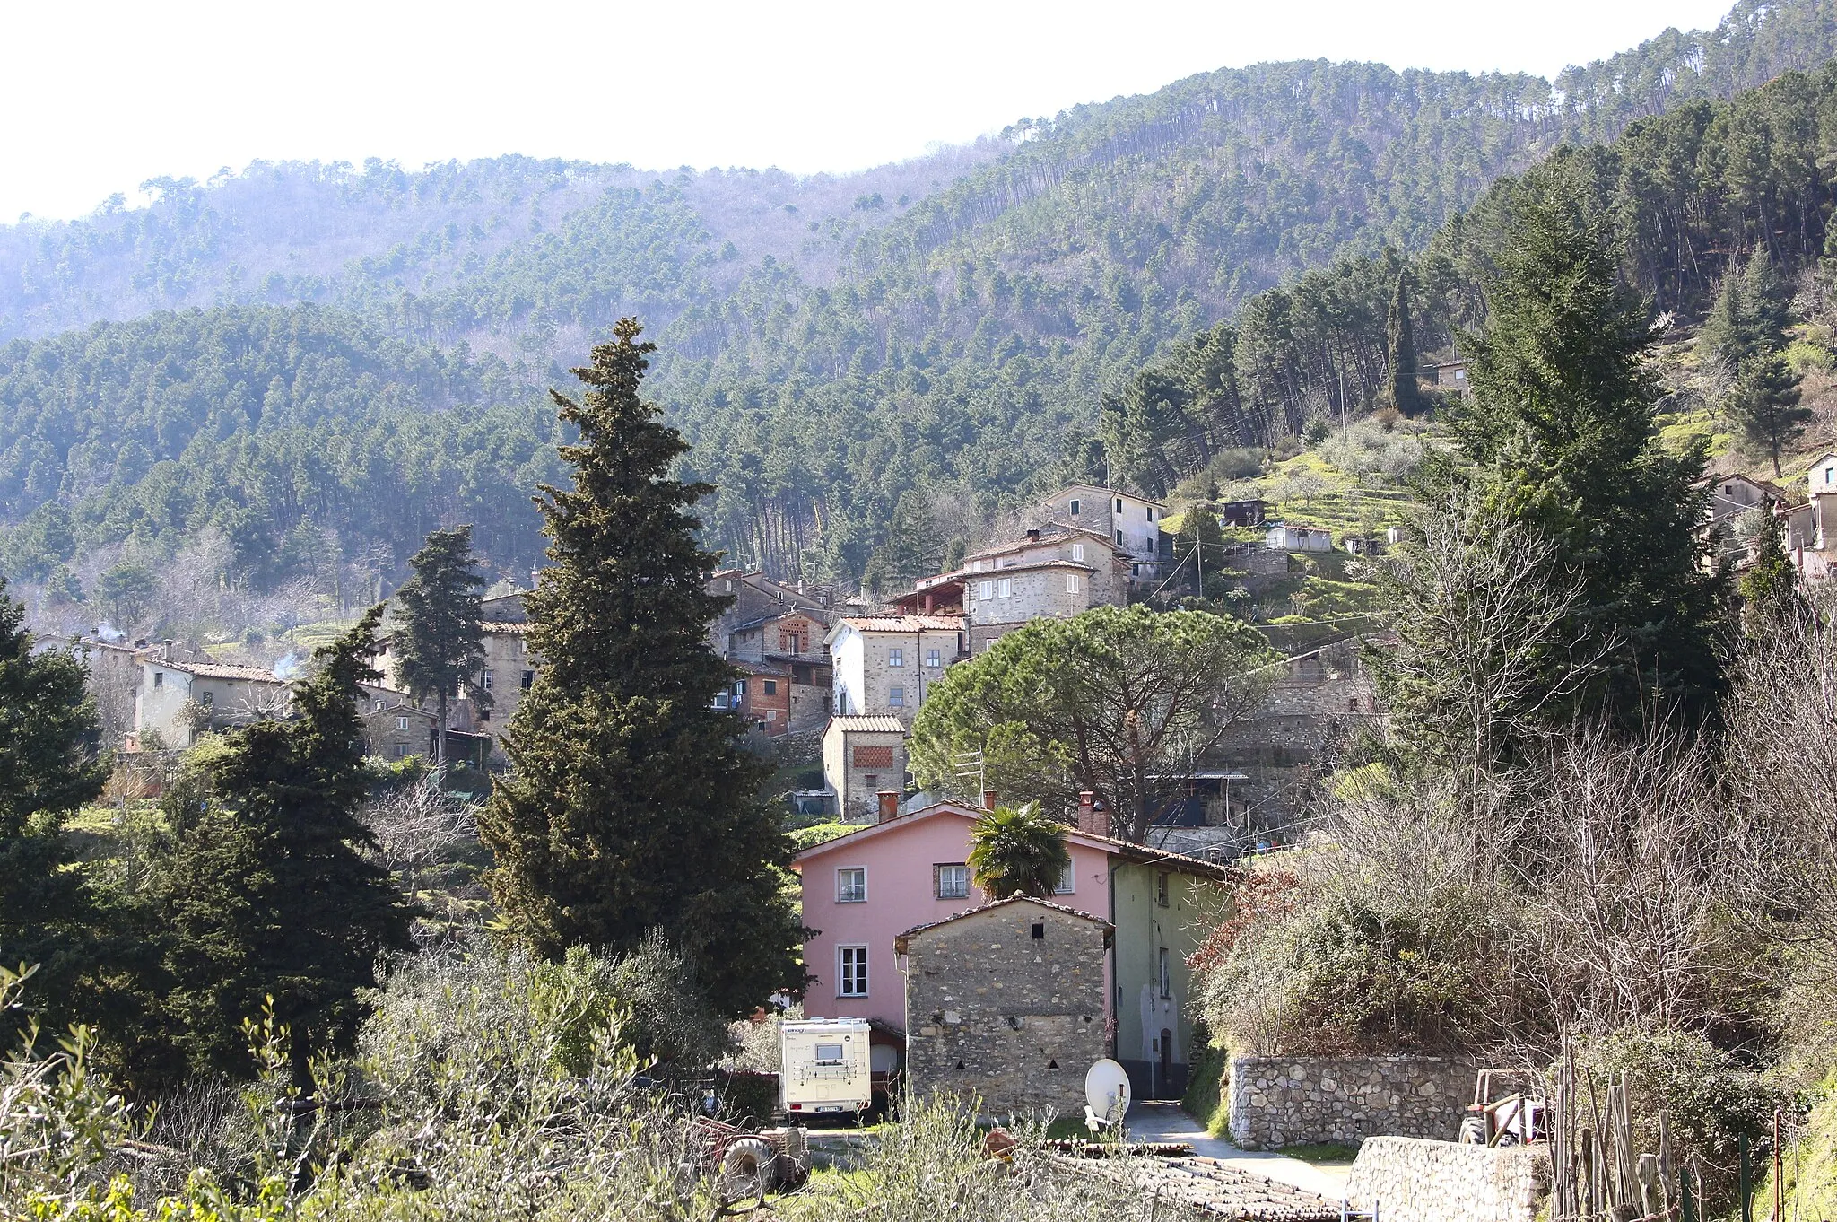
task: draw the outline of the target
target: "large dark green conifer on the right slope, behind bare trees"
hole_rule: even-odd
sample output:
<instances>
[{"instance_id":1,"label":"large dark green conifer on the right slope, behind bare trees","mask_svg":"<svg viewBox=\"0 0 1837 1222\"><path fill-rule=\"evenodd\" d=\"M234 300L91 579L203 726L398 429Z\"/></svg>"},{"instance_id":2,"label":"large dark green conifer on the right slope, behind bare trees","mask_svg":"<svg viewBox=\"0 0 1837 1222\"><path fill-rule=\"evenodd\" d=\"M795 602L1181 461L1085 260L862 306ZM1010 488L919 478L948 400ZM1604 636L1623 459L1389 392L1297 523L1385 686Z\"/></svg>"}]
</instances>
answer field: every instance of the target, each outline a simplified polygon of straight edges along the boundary
<instances>
[{"instance_id":1,"label":"large dark green conifer on the right slope, behind bare trees","mask_svg":"<svg viewBox=\"0 0 1837 1222\"><path fill-rule=\"evenodd\" d=\"M1527 200L1499 268L1490 325L1470 338L1473 397L1449 413L1477 470L1431 465L1444 487L1427 504L1466 504L1448 485L1473 485L1486 513L1536 529L1554 568L1582 583L1572 630L1613 641L1613 656L1545 717L1708 715L1723 623L1697 529L1705 456L1659 443L1648 305L1618 285L1591 206L1561 189Z\"/></svg>"}]
</instances>

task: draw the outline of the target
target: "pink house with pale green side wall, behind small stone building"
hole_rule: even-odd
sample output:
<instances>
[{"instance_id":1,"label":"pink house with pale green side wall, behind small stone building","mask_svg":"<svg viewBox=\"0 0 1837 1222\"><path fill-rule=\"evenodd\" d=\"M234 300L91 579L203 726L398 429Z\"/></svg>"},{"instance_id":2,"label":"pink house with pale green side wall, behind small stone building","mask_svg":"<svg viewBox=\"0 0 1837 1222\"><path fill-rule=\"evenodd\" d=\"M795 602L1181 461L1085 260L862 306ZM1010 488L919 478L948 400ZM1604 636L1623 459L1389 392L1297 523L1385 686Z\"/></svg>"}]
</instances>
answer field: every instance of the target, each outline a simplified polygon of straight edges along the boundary
<instances>
[{"instance_id":1,"label":"pink house with pale green side wall, behind small stone building","mask_svg":"<svg viewBox=\"0 0 1837 1222\"><path fill-rule=\"evenodd\" d=\"M794 869L803 884L803 922L814 930L805 943L812 976L805 1014L867 1018L882 1031L884 1047L904 1051L906 978L895 939L1003 897L983 895L964 866L979 810L937 803L898 816L895 809L885 803L878 823L805 849ZM1100 825L1102 816L1082 812L1080 823ZM1181 1013L1187 956L1222 913L1218 884L1231 871L1071 827L1065 847L1071 869L1053 902L1117 926L1104 972L1111 1055L1132 1077L1139 1073L1139 1097L1178 1097L1192 1018ZM880 1058L876 1068L893 1066Z\"/></svg>"}]
</instances>

